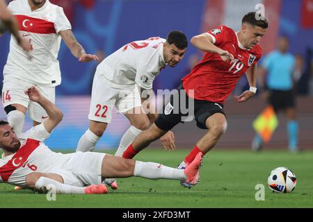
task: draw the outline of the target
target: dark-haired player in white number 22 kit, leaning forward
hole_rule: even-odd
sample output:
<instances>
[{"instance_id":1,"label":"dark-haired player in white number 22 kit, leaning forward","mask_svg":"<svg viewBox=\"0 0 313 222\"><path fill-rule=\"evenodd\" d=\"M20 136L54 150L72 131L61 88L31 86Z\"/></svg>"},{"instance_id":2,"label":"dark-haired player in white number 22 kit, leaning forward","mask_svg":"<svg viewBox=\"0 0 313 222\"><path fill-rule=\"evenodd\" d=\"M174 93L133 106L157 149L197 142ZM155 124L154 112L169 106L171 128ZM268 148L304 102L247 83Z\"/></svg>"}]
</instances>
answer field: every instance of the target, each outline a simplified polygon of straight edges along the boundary
<instances>
[{"instance_id":1,"label":"dark-haired player in white number 22 kit, leaning forward","mask_svg":"<svg viewBox=\"0 0 313 222\"><path fill-rule=\"evenodd\" d=\"M147 40L131 42L105 58L97 66L88 115L89 128L79 140L77 151L93 150L106 126L111 123L111 112L115 106L131 123L115 153L122 156L134 138L157 118L157 112L154 110L145 114L141 92L143 89L152 90L155 76L166 65L175 67L184 57L187 46L188 40L184 33L171 31L166 40L150 37ZM166 148L175 148L172 132L161 139ZM112 181L106 180L113 189L117 189L116 183L113 184Z\"/></svg>"}]
</instances>

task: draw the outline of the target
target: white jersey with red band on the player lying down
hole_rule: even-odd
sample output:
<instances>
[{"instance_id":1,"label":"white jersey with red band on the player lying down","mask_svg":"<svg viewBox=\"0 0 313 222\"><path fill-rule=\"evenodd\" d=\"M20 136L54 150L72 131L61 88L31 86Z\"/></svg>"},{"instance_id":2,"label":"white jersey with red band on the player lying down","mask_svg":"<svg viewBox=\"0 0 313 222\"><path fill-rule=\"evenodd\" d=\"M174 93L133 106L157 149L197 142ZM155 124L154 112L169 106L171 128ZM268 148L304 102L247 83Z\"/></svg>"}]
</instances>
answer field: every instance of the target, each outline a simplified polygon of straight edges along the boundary
<instances>
[{"instance_id":1,"label":"white jersey with red band on the player lying down","mask_svg":"<svg viewBox=\"0 0 313 222\"><path fill-rule=\"evenodd\" d=\"M70 160L72 153L51 151L43 142L49 135L43 123L20 135L19 150L0 160L0 182L25 187L29 173L49 173L61 169L61 166Z\"/></svg>"}]
</instances>

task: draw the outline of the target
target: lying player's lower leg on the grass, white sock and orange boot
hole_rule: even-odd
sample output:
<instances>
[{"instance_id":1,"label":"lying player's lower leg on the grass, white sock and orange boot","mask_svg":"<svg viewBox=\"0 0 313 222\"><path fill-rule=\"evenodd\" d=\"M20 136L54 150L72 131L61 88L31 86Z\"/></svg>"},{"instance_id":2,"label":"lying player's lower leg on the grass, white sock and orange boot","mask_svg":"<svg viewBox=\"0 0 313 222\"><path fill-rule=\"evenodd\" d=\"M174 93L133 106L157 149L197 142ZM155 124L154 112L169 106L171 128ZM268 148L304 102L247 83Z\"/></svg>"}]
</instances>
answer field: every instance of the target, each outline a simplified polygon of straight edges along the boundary
<instances>
[{"instance_id":1,"label":"lying player's lower leg on the grass, white sock and orange boot","mask_svg":"<svg viewBox=\"0 0 313 222\"><path fill-rule=\"evenodd\" d=\"M26 185L41 193L47 193L50 189L54 189L56 194L106 194L108 192L105 185L88 187L67 185L64 183L63 177L66 177L66 173L63 176L57 173L30 173L26 176Z\"/></svg>"}]
</instances>

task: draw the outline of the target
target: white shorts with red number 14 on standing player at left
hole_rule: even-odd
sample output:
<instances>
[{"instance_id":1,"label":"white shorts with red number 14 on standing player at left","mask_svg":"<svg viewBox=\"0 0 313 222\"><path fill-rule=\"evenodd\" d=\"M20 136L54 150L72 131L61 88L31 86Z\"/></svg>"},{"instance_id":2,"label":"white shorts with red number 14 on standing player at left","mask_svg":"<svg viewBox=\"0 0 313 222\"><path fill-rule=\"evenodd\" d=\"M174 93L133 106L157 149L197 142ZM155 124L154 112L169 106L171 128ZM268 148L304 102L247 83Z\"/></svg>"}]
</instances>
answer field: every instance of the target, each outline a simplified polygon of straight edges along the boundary
<instances>
[{"instance_id":1,"label":"white shorts with red number 14 on standing player at left","mask_svg":"<svg viewBox=\"0 0 313 222\"><path fill-rule=\"evenodd\" d=\"M38 104L29 100L29 96L27 96L24 92L29 87L33 86L32 83L27 83L23 80L15 79L15 80L6 80L3 82L2 88L2 104L3 108L7 105L19 104L23 105L27 108L29 112L29 117L34 121L42 123L45 119L48 118L47 112ZM35 85L37 89L39 89L42 96L45 96L46 99L55 103L56 94L55 87L43 87L40 85Z\"/></svg>"}]
</instances>

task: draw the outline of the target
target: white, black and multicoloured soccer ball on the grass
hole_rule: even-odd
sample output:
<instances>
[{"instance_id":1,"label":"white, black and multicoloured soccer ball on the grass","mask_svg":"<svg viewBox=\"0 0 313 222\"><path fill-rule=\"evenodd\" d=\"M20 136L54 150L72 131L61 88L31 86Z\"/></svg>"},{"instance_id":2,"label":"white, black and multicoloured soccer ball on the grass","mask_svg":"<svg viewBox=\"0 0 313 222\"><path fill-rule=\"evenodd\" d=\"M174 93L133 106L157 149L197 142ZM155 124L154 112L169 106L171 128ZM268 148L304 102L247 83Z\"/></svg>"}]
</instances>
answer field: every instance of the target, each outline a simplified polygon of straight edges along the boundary
<instances>
[{"instance_id":1,"label":"white, black and multicoloured soccer ball on the grass","mask_svg":"<svg viewBox=\"0 0 313 222\"><path fill-rule=\"evenodd\" d=\"M273 169L267 179L268 187L276 193L290 193L296 183L296 175L287 167Z\"/></svg>"}]
</instances>

